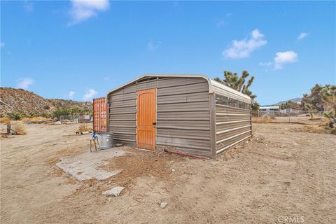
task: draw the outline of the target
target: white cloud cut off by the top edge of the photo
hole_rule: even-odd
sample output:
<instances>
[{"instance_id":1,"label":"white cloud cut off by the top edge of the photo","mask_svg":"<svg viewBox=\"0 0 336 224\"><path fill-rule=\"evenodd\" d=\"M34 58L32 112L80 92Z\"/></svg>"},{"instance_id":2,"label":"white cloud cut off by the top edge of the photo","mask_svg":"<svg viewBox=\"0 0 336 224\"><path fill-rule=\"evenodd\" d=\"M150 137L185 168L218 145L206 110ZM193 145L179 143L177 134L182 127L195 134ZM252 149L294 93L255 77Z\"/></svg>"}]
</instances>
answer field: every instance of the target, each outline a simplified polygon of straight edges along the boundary
<instances>
[{"instance_id":1,"label":"white cloud cut off by the top edge of the photo","mask_svg":"<svg viewBox=\"0 0 336 224\"><path fill-rule=\"evenodd\" d=\"M97 15L98 11L109 9L109 0L71 0L71 22L68 25L76 25Z\"/></svg>"}]
</instances>

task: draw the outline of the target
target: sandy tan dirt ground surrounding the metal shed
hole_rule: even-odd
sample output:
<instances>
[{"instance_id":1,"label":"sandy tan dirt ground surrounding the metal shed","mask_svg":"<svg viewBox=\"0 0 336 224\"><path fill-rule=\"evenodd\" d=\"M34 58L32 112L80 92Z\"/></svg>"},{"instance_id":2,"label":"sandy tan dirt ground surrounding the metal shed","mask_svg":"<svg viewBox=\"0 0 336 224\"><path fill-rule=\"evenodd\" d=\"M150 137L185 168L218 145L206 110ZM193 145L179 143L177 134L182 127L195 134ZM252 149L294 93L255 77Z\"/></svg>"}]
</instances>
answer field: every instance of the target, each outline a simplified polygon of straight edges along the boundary
<instances>
[{"instance_id":1,"label":"sandy tan dirt ground surrounding the metal shed","mask_svg":"<svg viewBox=\"0 0 336 224\"><path fill-rule=\"evenodd\" d=\"M80 182L55 166L89 151L76 127L1 137L1 223L336 223L335 135L253 124L253 138L217 160L127 148L100 167L120 174ZM113 186L125 190L102 195Z\"/></svg>"}]
</instances>

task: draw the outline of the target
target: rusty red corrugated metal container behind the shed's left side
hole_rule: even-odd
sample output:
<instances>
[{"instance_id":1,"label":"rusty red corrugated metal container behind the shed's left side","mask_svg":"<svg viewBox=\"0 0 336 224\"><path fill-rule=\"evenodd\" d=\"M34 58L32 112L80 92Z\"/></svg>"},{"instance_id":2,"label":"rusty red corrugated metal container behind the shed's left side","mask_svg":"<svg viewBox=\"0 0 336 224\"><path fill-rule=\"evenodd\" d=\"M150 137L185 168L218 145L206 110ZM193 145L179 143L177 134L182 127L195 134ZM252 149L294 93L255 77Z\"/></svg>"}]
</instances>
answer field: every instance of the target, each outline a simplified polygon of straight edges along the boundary
<instances>
[{"instance_id":1,"label":"rusty red corrugated metal container behind the shed's left side","mask_svg":"<svg viewBox=\"0 0 336 224\"><path fill-rule=\"evenodd\" d=\"M106 132L105 97L93 99L93 130L94 132Z\"/></svg>"}]
</instances>

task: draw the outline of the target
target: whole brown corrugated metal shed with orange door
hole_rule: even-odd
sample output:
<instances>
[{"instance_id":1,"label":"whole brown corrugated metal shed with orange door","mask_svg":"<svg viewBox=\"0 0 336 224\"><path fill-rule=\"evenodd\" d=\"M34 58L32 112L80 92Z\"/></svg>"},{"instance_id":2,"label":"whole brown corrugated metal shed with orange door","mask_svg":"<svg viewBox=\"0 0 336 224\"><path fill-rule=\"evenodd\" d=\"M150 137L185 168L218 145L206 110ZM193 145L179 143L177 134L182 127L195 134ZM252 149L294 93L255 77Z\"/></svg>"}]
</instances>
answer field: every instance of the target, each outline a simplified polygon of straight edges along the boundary
<instances>
[{"instance_id":1,"label":"whole brown corrugated metal shed with orange door","mask_svg":"<svg viewBox=\"0 0 336 224\"><path fill-rule=\"evenodd\" d=\"M251 98L203 75L144 75L106 95L107 128L125 145L216 158L251 137Z\"/></svg>"}]
</instances>

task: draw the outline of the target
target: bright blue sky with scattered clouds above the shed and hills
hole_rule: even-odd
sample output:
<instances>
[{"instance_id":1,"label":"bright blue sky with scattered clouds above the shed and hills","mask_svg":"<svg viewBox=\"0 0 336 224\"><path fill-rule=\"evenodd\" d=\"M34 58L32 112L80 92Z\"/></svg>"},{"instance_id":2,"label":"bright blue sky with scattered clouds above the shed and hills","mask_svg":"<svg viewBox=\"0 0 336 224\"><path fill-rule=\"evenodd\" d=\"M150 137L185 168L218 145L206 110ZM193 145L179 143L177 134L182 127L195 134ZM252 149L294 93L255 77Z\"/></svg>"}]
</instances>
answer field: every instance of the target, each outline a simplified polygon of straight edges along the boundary
<instances>
[{"instance_id":1,"label":"bright blue sky with scattered clouds above the shed and hills","mask_svg":"<svg viewBox=\"0 0 336 224\"><path fill-rule=\"evenodd\" d=\"M90 100L144 73L255 76L260 104L336 83L335 1L1 1L1 86Z\"/></svg>"}]
</instances>

